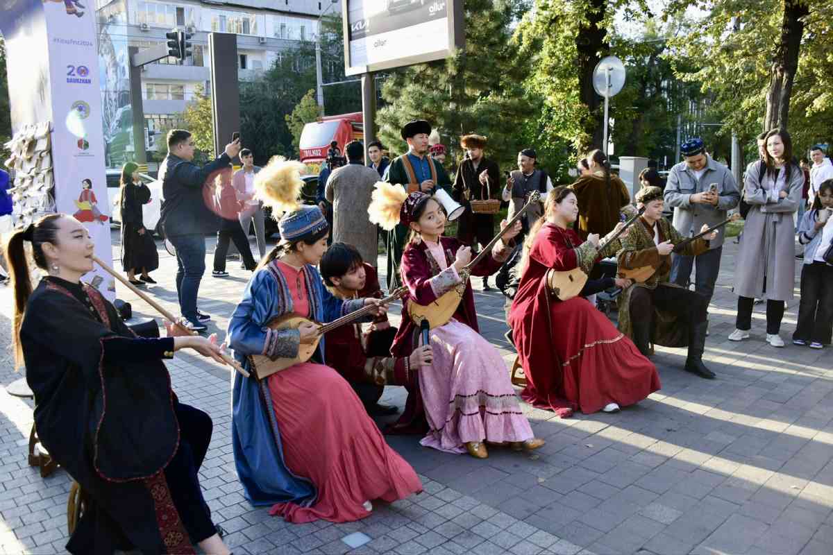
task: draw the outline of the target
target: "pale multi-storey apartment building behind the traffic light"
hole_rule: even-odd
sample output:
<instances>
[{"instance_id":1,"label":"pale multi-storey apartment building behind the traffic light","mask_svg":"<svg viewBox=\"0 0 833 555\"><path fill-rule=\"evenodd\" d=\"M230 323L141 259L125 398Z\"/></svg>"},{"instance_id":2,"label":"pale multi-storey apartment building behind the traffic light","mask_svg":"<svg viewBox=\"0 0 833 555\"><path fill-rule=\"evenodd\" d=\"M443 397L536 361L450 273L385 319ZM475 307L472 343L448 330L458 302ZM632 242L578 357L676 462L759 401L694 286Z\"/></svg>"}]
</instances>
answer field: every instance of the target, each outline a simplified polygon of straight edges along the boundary
<instances>
[{"instance_id":1,"label":"pale multi-storey apartment building behind the traffic light","mask_svg":"<svg viewBox=\"0 0 833 555\"><path fill-rule=\"evenodd\" d=\"M199 87L211 90L209 32L237 34L238 77L249 80L298 41L316 40L320 17L341 9L341 0L97 0L108 150L132 151L127 47L163 43L173 27L193 33L192 56L183 65L162 58L142 68L143 111L152 137L185 110ZM122 158L130 156L114 154L112 163Z\"/></svg>"}]
</instances>

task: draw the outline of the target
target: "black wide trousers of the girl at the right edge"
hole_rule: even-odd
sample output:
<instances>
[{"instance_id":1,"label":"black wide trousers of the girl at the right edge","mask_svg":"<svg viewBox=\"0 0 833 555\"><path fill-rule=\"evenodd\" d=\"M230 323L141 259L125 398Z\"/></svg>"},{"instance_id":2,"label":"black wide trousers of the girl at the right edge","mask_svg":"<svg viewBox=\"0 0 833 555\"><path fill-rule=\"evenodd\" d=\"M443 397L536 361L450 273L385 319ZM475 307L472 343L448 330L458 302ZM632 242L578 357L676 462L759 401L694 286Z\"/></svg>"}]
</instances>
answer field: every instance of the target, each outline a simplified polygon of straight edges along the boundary
<instances>
[{"instance_id":1,"label":"black wide trousers of the girl at the right edge","mask_svg":"<svg viewBox=\"0 0 833 555\"><path fill-rule=\"evenodd\" d=\"M801 268L801 304L792 339L831 344L833 335L833 266L813 262Z\"/></svg>"}]
</instances>

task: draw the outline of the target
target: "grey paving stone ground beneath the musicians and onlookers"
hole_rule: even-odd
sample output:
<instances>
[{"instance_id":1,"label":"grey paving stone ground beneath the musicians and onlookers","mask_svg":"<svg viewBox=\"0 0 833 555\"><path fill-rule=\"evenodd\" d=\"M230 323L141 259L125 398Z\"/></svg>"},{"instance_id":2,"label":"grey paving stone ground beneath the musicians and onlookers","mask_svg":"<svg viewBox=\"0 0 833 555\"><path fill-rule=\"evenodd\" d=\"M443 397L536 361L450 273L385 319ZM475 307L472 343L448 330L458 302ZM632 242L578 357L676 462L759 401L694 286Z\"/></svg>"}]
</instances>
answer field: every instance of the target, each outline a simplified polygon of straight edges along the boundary
<instances>
[{"instance_id":1,"label":"grey paving stone ground beneath the musicians and onlookers","mask_svg":"<svg viewBox=\"0 0 833 555\"><path fill-rule=\"evenodd\" d=\"M117 258L116 233L113 240ZM217 522L229 532L228 543L236 555L830 555L831 350L790 344L797 297L782 327L785 349L764 342L760 305L751 339L740 344L726 339L734 329L735 252L730 240L710 310L706 359L718 379L683 372L684 350L658 349L661 391L620 414L561 420L523 404L536 434L547 442L533 454L491 449L490 458L480 461L421 448L413 436L387 436L420 473L425 493L378 503L370 518L357 523L287 524L270 517L267 508L252 508L234 471L229 374L204 359L177 354L168 364L177 394L214 419L202 486ZM148 292L175 311L176 264L161 247L160 259L154 273L159 283ZM382 268L383 262L380 258ZM228 270L226 279L207 272L200 291L201 310L214 315L210 331L221 336L248 274L231 261ZM514 352L503 338L503 298L480 291L479 278L473 282L481 332L500 349L508 368ZM130 323L157 317L128 291L119 288L118 295L132 303ZM0 290L4 346L10 344L11 315L11 295ZM392 320L397 323L398 317ZM0 381L6 385L20 375L13 372L9 349L3 349ZM404 399L401 388L387 388L383 401L402 407ZM0 390L0 553L64 553L70 480L62 470L40 478L27 466L31 423L31 403ZM367 543L351 548L345 538Z\"/></svg>"}]
</instances>

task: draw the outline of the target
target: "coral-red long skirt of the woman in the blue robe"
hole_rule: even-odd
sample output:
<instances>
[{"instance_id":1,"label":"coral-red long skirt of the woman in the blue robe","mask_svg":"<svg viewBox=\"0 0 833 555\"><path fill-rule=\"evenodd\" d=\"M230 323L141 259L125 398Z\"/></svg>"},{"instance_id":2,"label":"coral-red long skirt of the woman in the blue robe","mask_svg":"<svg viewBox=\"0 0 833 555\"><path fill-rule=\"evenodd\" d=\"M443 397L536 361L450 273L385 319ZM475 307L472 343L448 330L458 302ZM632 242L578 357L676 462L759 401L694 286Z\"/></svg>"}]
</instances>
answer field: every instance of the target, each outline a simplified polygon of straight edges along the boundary
<instances>
[{"instance_id":1,"label":"coral-red long skirt of the woman in the blue robe","mask_svg":"<svg viewBox=\"0 0 833 555\"><path fill-rule=\"evenodd\" d=\"M291 523L365 518L365 501L391 502L422 491L405 459L388 447L362 401L336 370L304 363L269 376L283 456L292 473L318 490L312 507L277 503L269 512Z\"/></svg>"}]
</instances>

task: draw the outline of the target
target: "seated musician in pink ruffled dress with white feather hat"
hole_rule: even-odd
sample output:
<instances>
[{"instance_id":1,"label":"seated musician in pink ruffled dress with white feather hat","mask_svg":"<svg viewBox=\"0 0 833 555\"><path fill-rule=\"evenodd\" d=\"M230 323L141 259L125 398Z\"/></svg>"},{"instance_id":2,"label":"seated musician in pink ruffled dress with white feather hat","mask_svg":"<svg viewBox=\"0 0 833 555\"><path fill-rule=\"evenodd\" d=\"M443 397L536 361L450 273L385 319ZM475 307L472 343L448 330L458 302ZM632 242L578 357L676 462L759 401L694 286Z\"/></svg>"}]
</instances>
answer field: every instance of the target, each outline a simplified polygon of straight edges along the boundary
<instances>
[{"instance_id":1,"label":"seated musician in pink ruffled dress with white feather hat","mask_svg":"<svg viewBox=\"0 0 833 555\"><path fill-rule=\"evenodd\" d=\"M464 270L471 261L471 247L442 236L446 215L440 203L425 193L407 195L402 187L380 182L367 211L371 221L385 229L401 223L412 230L400 266L408 292L391 349L394 356L408 356L420 344L420 328L410 317L412 303L428 305L452 289L462 291L451 321L429 332L431 364L412 369L419 389L411 395L419 396L429 427L421 444L446 453L467 451L476 458L488 457L486 442L509 444L516 451L541 447L543 440L533 437L521 412L506 364L478 331L474 295ZM510 241L520 230L520 224L513 225L503 240ZM489 275L500 268L511 250L503 240L471 268L471 275Z\"/></svg>"}]
</instances>

